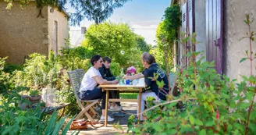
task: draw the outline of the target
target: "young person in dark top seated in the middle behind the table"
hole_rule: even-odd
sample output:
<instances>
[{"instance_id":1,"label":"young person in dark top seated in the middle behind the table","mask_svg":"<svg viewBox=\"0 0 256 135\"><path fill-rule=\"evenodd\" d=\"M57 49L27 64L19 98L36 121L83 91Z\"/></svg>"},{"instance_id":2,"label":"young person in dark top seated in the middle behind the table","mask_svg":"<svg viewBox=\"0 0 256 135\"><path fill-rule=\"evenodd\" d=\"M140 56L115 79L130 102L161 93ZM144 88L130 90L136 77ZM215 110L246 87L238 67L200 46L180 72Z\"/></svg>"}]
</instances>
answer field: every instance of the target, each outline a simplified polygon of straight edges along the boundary
<instances>
[{"instance_id":1,"label":"young person in dark top seated in the middle behind the table","mask_svg":"<svg viewBox=\"0 0 256 135\"><path fill-rule=\"evenodd\" d=\"M99 72L101 73L102 78L108 81L116 80L116 77L113 76L110 71L110 65L112 60L108 57L104 57L102 60L103 60L102 67L98 69ZM119 98L119 91L110 91L110 94L112 98ZM122 109L120 102L116 102L116 105L118 105L118 107L116 108ZM110 109L112 109L112 106L110 107Z\"/></svg>"}]
</instances>

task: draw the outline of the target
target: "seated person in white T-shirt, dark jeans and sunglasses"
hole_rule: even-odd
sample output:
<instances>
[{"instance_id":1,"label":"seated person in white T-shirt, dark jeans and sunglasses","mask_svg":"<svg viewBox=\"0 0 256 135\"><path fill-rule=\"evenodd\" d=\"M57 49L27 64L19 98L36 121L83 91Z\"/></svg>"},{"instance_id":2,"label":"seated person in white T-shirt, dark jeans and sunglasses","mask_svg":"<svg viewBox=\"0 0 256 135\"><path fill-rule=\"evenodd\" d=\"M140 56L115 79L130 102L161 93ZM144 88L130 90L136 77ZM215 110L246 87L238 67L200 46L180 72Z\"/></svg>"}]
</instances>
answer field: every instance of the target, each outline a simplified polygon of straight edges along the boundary
<instances>
[{"instance_id":1,"label":"seated person in white T-shirt, dark jeans and sunglasses","mask_svg":"<svg viewBox=\"0 0 256 135\"><path fill-rule=\"evenodd\" d=\"M118 80L104 80L101 77L101 73L98 71L102 66L101 55L94 55L91 58L91 68L87 70L87 73L84 74L80 86L80 99L81 100L93 100L93 99L102 99L101 108L102 115L101 121L105 120L105 98L106 93L101 91L101 88L98 87L98 84L108 84L108 83L118 83ZM119 108L117 108L119 109ZM117 110L118 111L118 110ZM113 121L110 116L108 116L108 121Z\"/></svg>"}]
</instances>

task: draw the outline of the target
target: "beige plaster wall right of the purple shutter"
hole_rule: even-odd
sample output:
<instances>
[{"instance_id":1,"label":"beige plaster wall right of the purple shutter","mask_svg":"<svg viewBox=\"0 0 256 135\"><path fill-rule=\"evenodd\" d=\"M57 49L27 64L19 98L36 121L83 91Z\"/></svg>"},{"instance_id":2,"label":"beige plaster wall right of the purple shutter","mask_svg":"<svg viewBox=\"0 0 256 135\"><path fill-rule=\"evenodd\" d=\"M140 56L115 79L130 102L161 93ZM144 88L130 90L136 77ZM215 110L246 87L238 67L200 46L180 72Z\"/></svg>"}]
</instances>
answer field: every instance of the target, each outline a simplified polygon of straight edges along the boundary
<instances>
[{"instance_id":1,"label":"beige plaster wall right of the purple shutter","mask_svg":"<svg viewBox=\"0 0 256 135\"><path fill-rule=\"evenodd\" d=\"M223 44L223 70L231 79L241 80L240 75L250 75L249 60L239 63L240 59L247 57L245 51L250 49L249 39L240 41L248 30L244 23L245 14L252 13L256 18L256 1L254 0L224 0L224 44ZM256 21L251 25L256 32ZM253 52L256 52L256 41L253 42ZM254 60L254 75L256 74Z\"/></svg>"}]
</instances>

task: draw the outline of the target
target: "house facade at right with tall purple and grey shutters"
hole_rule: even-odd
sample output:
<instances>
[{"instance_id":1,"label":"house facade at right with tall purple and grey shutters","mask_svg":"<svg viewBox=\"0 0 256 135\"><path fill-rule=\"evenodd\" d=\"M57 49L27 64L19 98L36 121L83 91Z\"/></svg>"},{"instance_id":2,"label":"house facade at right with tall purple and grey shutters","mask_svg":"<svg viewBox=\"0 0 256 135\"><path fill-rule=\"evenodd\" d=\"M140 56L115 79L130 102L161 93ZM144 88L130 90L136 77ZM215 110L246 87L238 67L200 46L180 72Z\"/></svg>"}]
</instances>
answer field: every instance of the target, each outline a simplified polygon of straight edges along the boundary
<instances>
[{"instance_id":1,"label":"house facade at right with tall purple and grey shutters","mask_svg":"<svg viewBox=\"0 0 256 135\"><path fill-rule=\"evenodd\" d=\"M249 39L240 41L240 38L245 37L248 31L244 23L245 15L251 13L256 18L256 1L176 0L172 4L179 4L182 12L180 33L185 33L185 37L197 34L199 43L195 45L194 51L203 52L202 55L209 62L215 61L218 73L238 81L241 80L240 75L250 75L250 62L240 63L240 59L247 57L245 51L250 50ZM252 23L251 30L256 31L256 21ZM174 44L175 64L187 66L184 54L191 49L190 41L187 44ZM255 41L252 51L256 52Z\"/></svg>"}]
</instances>

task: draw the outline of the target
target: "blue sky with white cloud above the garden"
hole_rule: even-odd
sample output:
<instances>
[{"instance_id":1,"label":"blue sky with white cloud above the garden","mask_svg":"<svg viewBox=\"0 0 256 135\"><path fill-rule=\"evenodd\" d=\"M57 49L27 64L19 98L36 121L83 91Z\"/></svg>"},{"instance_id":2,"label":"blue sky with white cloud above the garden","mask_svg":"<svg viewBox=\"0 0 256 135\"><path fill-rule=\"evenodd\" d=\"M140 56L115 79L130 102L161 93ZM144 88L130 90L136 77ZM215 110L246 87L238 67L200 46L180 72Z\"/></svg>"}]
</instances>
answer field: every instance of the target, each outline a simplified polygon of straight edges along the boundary
<instances>
[{"instance_id":1,"label":"blue sky with white cloud above the garden","mask_svg":"<svg viewBox=\"0 0 256 135\"><path fill-rule=\"evenodd\" d=\"M115 9L112 16L107 20L113 23L128 23L136 34L145 38L148 44L155 45L155 32L161 22L165 9L170 5L171 0L132 0L122 8ZM73 12L67 6L68 12ZM93 22L83 20L80 27L90 27ZM79 27L70 27L70 30L77 30Z\"/></svg>"}]
</instances>

